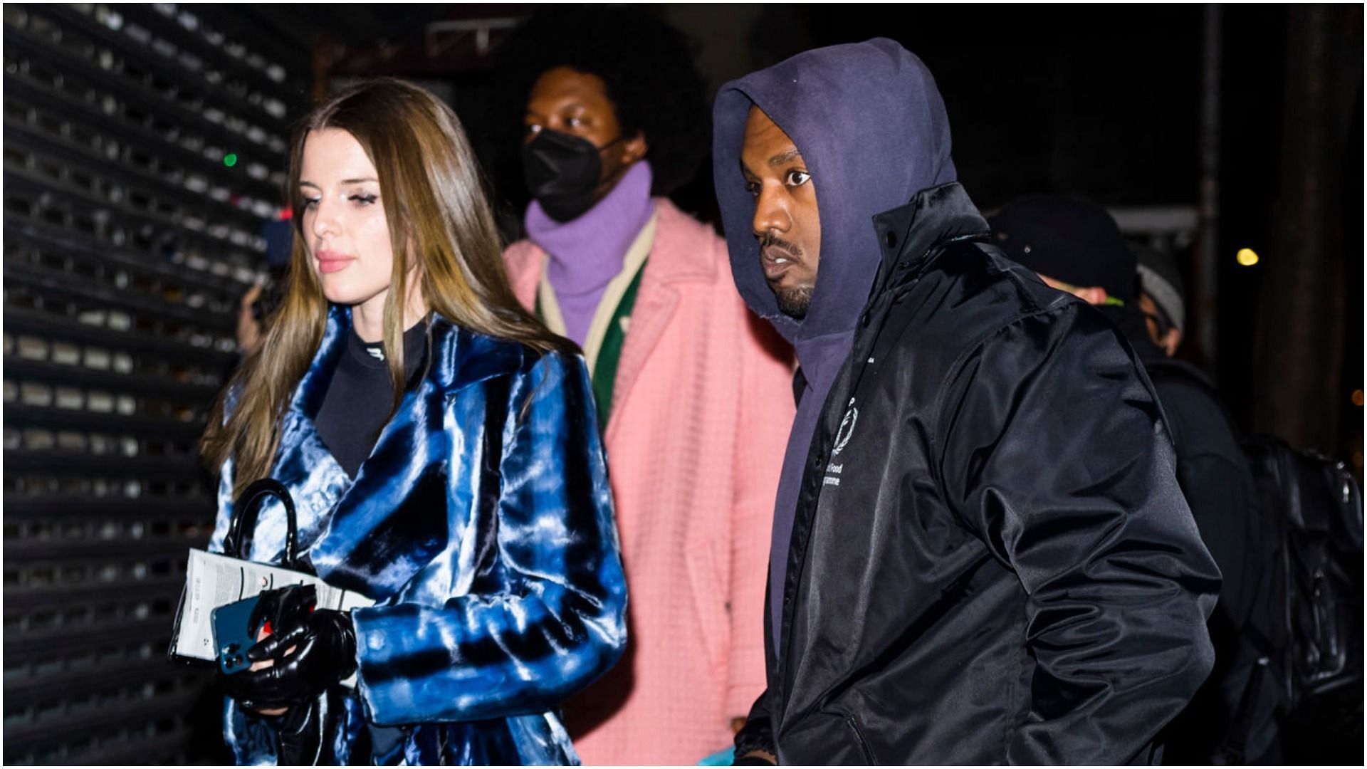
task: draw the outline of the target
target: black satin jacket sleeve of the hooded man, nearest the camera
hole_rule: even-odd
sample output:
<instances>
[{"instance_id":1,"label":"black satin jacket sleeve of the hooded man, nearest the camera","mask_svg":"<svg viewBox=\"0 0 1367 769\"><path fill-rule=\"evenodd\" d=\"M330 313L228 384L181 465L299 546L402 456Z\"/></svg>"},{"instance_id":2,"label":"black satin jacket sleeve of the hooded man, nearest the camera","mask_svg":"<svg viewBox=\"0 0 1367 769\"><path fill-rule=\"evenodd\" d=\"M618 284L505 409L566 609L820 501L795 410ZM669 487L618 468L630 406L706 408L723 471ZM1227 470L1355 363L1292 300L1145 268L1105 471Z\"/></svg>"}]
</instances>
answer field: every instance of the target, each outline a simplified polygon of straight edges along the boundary
<instances>
[{"instance_id":1,"label":"black satin jacket sleeve of the hooded man, nearest the camera","mask_svg":"<svg viewBox=\"0 0 1367 769\"><path fill-rule=\"evenodd\" d=\"M1077 302L968 353L940 397L946 495L1018 576L1035 661L1010 764L1125 764L1210 673L1219 572L1152 387Z\"/></svg>"}]
</instances>

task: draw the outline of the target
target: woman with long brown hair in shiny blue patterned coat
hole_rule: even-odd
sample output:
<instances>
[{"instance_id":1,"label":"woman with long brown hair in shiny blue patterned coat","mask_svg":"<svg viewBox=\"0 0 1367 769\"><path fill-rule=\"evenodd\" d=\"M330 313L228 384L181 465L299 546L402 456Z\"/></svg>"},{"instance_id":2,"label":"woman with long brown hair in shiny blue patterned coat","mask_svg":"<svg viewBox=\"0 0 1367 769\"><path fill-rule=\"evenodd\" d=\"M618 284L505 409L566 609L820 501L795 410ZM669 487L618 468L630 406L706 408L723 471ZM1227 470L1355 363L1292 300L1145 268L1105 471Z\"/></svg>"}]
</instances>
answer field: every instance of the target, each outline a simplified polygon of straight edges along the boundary
<instances>
[{"instance_id":1,"label":"woman with long brown hair in shiny blue patterned coat","mask_svg":"<svg viewBox=\"0 0 1367 769\"><path fill-rule=\"evenodd\" d=\"M474 156L422 89L317 107L290 189L291 283L202 441L221 467L211 549L273 478L306 564L375 605L275 606L293 618L224 677L235 758L577 762L556 709L626 636L582 359L507 287ZM242 557L279 562L286 528L262 506Z\"/></svg>"}]
</instances>

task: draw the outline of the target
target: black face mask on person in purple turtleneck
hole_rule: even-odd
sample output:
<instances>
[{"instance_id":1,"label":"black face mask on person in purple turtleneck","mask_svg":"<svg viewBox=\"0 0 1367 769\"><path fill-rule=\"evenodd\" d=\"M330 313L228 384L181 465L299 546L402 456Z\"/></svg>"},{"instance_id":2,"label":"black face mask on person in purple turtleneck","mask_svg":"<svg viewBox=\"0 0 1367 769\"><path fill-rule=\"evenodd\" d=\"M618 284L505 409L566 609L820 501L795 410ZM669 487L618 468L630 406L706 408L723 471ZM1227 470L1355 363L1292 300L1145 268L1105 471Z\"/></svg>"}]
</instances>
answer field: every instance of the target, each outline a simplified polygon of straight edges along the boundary
<instances>
[{"instance_id":1,"label":"black face mask on person in purple turtleneck","mask_svg":"<svg viewBox=\"0 0 1367 769\"><path fill-rule=\"evenodd\" d=\"M526 189L541 211L556 222L569 222L588 211L603 178L601 152L619 141L622 137L593 146L586 138L543 129L522 145Z\"/></svg>"}]
</instances>

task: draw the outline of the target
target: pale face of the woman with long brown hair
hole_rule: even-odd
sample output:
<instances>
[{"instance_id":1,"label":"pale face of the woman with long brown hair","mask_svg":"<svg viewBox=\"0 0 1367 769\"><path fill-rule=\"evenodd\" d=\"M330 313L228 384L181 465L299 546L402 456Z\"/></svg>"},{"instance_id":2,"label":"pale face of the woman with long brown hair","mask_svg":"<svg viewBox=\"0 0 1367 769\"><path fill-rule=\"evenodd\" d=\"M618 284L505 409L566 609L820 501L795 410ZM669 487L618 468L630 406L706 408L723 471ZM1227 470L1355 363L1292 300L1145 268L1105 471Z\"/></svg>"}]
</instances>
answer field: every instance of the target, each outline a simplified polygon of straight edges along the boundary
<instances>
[{"instance_id":1,"label":"pale face of the woman with long brown hair","mask_svg":"<svg viewBox=\"0 0 1367 769\"><path fill-rule=\"evenodd\" d=\"M380 179L361 142L342 129L309 131L299 197L309 267L334 304L380 319L390 293L394 244Z\"/></svg>"}]
</instances>

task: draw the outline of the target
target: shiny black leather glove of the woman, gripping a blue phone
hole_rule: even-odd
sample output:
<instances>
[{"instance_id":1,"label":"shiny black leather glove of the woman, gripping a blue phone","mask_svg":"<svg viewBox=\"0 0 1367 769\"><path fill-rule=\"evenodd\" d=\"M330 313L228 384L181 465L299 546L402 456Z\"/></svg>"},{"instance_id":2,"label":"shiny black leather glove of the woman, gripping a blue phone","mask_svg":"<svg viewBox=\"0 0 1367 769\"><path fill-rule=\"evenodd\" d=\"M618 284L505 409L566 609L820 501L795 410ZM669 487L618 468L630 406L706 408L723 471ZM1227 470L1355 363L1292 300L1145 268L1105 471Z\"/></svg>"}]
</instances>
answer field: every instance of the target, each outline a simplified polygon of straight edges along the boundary
<instances>
[{"instance_id":1,"label":"shiny black leather glove of the woman, gripping a blue phone","mask_svg":"<svg viewBox=\"0 0 1367 769\"><path fill-rule=\"evenodd\" d=\"M247 650L247 660L275 664L261 670L224 676L224 688L243 707L286 707L312 701L355 672L355 628L351 614L312 605L313 588L284 588L262 610L273 635ZM276 624L279 621L279 624Z\"/></svg>"}]
</instances>

